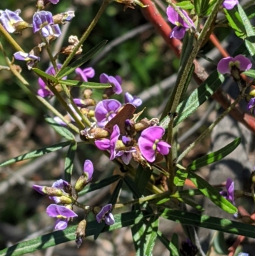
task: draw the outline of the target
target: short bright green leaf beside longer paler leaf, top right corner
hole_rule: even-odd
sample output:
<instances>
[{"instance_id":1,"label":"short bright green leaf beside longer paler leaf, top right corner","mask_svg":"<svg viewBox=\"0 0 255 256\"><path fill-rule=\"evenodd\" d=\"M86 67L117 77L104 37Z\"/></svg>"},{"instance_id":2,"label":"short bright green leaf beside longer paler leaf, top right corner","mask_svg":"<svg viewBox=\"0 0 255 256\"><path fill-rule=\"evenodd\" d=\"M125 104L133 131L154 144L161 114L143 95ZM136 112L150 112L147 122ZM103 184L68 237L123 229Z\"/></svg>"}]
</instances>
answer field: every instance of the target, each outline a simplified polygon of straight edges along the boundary
<instances>
[{"instance_id":1,"label":"short bright green leaf beside longer paler leaf, top right corner","mask_svg":"<svg viewBox=\"0 0 255 256\"><path fill-rule=\"evenodd\" d=\"M240 17L240 14L237 11L237 8L233 8L232 10L226 10L224 8L223 10L226 14L226 18L228 19L229 25L233 28L235 34L239 38L245 39L245 37L247 36L246 30L242 18Z\"/></svg>"}]
</instances>

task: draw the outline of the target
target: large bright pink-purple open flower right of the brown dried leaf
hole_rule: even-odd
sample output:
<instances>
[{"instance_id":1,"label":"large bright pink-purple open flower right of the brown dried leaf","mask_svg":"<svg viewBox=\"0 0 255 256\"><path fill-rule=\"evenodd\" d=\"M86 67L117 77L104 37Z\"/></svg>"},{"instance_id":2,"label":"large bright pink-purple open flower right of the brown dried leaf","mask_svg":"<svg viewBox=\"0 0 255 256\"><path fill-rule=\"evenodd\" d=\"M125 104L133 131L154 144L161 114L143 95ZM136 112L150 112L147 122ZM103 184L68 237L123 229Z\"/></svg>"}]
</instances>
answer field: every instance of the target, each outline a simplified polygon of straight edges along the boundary
<instances>
[{"instance_id":1,"label":"large bright pink-purple open flower right of the brown dried leaf","mask_svg":"<svg viewBox=\"0 0 255 256\"><path fill-rule=\"evenodd\" d=\"M161 126L152 126L146 128L138 139L138 146L143 157L154 162L157 151L160 154L168 154L171 147L168 143L161 140L164 135L164 128Z\"/></svg>"}]
</instances>

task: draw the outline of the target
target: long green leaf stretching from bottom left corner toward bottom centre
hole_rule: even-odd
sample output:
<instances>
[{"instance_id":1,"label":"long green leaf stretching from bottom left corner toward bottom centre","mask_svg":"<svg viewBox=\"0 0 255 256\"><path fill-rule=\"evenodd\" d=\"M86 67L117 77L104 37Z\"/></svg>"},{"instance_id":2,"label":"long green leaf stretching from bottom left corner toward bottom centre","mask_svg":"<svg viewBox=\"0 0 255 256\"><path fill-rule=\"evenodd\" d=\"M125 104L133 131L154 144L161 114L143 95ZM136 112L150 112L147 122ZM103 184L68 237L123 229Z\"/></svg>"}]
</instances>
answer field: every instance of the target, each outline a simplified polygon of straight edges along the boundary
<instances>
[{"instance_id":1,"label":"long green leaf stretching from bottom left corner toward bottom centre","mask_svg":"<svg viewBox=\"0 0 255 256\"><path fill-rule=\"evenodd\" d=\"M150 214L146 211L131 211L129 213L122 213L114 215L115 223L110 226L105 226L102 232L108 232L122 227L128 227L134 223L141 222L149 218ZM96 220L87 223L86 236L93 236L98 226ZM50 246L59 245L68 241L75 240L75 229L77 225L68 227L65 230L59 230L46 234L29 241L18 243L0 251L0 256L19 256L25 253L36 252L38 250L46 249ZM85 241L84 241L85 242Z\"/></svg>"}]
</instances>

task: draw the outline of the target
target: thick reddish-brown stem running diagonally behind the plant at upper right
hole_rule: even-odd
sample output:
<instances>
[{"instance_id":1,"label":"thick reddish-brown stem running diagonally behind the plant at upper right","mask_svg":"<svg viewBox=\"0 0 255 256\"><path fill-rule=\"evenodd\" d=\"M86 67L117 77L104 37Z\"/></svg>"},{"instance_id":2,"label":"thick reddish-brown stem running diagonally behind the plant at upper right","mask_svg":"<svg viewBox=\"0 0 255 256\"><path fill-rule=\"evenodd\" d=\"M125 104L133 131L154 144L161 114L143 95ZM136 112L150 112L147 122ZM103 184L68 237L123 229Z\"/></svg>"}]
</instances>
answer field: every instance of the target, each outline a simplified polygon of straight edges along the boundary
<instances>
[{"instance_id":1,"label":"thick reddish-brown stem running diagonally behind the plant at upper right","mask_svg":"<svg viewBox=\"0 0 255 256\"><path fill-rule=\"evenodd\" d=\"M175 38L170 38L169 35L171 33L171 28L168 23L163 19L159 11L154 3L150 0L141 0L143 4L148 5L149 7L142 8L143 15L149 22L155 27L157 32L161 34L164 38L164 41L168 44L170 49L173 50L177 57L180 57L180 52L182 50L182 42ZM216 42L216 41L215 41ZM226 54L226 52L224 53ZM197 61L194 61L195 70L194 70L194 79L198 84L201 84L205 79L207 79L208 74L205 70L198 64ZM224 93L222 89L218 89L214 95L212 96L214 100L219 102L224 109L230 107L231 97ZM235 107L230 112L231 116L233 116L237 121L244 124L249 130L255 133L255 118L245 112L243 112L239 107Z\"/></svg>"}]
</instances>

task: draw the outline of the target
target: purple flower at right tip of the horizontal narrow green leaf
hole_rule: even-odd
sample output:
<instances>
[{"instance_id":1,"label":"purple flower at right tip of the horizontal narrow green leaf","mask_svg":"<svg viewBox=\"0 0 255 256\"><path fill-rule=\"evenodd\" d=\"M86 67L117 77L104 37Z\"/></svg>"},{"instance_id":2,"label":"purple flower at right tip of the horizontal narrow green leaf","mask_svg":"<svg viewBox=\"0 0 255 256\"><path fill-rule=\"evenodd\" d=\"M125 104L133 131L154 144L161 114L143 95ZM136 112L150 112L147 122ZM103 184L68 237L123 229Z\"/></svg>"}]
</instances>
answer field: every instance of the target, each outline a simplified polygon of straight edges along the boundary
<instances>
[{"instance_id":1,"label":"purple flower at right tip of the horizontal narrow green leaf","mask_svg":"<svg viewBox=\"0 0 255 256\"><path fill-rule=\"evenodd\" d=\"M121 84L122 84L122 79L119 75L116 75L115 77L112 77L110 75L106 75L106 73L103 73L100 75L99 77L100 82L102 84L111 84L112 87L111 88L107 88L105 90L105 93L110 96L112 94L120 94L122 93L122 88L121 88Z\"/></svg>"}]
</instances>

